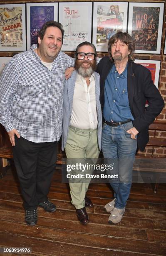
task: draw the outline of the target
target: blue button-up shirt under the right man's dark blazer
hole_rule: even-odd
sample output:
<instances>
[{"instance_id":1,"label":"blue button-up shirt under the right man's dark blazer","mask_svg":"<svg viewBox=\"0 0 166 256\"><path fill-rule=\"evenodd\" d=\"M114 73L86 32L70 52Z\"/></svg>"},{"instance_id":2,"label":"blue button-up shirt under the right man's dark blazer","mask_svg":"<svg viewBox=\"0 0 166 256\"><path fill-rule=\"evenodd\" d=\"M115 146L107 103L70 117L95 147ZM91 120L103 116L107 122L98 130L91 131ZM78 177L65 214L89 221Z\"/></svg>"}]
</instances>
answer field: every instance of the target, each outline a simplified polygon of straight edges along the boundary
<instances>
[{"instance_id":1,"label":"blue button-up shirt under the right man's dark blazer","mask_svg":"<svg viewBox=\"0 0 166 256\"><path fill-rule=\"evenodd\" d=\"M119 74L115 65L111 68L104 85L104 119L120 122L134 120L127 92L127 65Z\"/></svg>"}]
</instances>

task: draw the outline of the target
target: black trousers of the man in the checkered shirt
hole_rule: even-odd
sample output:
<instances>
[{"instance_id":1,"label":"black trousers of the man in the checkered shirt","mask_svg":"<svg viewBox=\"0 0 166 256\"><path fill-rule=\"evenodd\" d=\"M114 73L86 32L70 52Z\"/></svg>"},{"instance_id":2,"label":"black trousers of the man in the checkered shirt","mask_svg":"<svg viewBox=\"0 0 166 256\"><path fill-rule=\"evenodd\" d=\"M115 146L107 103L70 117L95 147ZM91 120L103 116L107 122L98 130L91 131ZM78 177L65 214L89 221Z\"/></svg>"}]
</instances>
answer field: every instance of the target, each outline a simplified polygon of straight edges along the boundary
<instances>
[{"instance_id":1,"label":"black trousers of the man in the checkered shirt","mask_svg":"<svg viewBox=\"0 0 166 256\"><path fill-rule=\"evenodd\" d=\"M15 136L13 157L26 210L35 210L40 202L47 200L56 166L57 145L57 141L35 143Z\"/></svg>"}]
</instances>

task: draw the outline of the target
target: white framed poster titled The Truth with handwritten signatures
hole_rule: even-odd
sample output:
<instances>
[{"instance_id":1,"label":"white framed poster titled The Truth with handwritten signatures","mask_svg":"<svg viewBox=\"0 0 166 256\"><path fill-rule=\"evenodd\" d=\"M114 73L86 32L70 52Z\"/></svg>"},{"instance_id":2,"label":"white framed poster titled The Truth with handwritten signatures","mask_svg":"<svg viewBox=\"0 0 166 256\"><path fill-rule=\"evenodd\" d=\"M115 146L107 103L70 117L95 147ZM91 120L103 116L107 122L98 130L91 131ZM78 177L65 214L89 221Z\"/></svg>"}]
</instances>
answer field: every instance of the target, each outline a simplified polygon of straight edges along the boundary
<instances>
[{"instance_id":1,"label":"white framed poster titled The Truth with handwritten signatures","mask_svg":"<svg viewBox=\"0 0 166 256\"><path fill-rule=\"evenodd\" d=\"M62 51L75 51L80 43L91 42L92 3L59 3L59 13L64 28Z\"/></svg>"}]
</instances>

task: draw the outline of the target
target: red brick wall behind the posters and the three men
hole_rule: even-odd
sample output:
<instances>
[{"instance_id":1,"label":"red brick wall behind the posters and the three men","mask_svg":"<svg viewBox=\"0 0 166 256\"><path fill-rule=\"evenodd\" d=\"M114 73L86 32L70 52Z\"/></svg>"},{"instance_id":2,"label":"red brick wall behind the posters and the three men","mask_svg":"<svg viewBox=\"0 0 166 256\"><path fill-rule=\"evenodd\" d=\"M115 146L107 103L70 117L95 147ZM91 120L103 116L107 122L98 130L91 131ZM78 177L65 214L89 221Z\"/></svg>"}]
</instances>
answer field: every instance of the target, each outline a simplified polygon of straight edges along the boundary
<instances>
[{"instance_id":1,"label":"red brick wall behind the posters and the three men","mask_svg":"<svg viewBox=\"0 0 166 256\"><path fill-rule=\"evenodd\" d=\"M72 0L73 2L79 2L78 0ZM84 0L85 2L86 0ZM92 0L95 2L96 0ZM102 1L102 0L100 0ZM103 0L104 1L104 0ZM54 0L1 0L0 4L9 4L9 3L41 3L41 2L55 2ZM57 2L66 2L63 0L59 0ZM104 1L105 2L105 1ZM127 2L130 2L129 0ZM131 1L133 2L133 1ZM135 1L136 2L136 1ZM153 0L138 0L138 2L159 2ZM161 1L164 2L164 1ZM135 54L135 59L153 59L153 60L161 60L161 70L159 77L159 91L161 92L164 101L166 102L166 55L164 55L164 44L165 44L165 35L166 35L166 6L165 6L165 16L164 16L164 24L163 24L163 38L161 42L161 54ZM0 52L0 56L13 56L18 52ZM67 52L70 56L73 56L73 52ZM98 53L99 57L106 56L105 53ZM161 114L156 118L155 122L158 123L166 123L166 104ZM166 131L150 131L151 138L164 138L166 139ZM166 157L166 147L160 146L146 146L144 152L138 151L137 156L148 156L148 157Z\"/></svg>"}]
</instances>

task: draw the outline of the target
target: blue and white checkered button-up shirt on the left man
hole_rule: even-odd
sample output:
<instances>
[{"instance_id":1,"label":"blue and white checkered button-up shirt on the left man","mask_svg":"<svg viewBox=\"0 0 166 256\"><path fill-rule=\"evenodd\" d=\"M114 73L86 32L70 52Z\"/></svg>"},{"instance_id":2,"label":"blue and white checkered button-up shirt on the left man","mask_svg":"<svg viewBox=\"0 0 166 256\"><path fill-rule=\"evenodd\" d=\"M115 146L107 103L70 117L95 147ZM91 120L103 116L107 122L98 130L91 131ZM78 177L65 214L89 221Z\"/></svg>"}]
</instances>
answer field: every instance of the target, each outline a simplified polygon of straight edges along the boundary
<instances>
[{"instance_id":1,"label":"blue and white checkered button-up shirt on the left man","mask_svg":"<svg viewBox=\"0 0 166 256\"><path fill-rule=\"evenodd\" d=\"M32 45L15 55L0 77L0 123L33 142L59 141L62 133L64 72L74 59L59 52L50 71Z\"/></svg>"}]
</instances>

